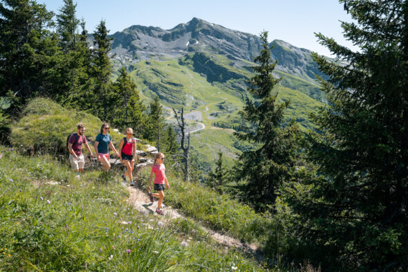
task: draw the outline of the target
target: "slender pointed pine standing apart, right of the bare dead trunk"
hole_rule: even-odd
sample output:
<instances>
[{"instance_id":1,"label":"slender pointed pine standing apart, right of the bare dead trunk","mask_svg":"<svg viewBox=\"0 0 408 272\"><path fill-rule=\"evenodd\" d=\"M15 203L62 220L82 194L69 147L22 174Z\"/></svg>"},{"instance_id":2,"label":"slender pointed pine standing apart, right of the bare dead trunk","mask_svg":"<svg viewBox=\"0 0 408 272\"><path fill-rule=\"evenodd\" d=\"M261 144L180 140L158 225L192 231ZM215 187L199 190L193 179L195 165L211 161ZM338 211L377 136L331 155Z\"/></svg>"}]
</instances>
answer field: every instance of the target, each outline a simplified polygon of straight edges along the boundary
<instances>
[{"instance_id":1,"label":"slender pointed pine standing apart, right of the bare dead trunk","mask_svg":"<svg viewBox=\"0 0 408 272\"><path fill-rule=\"evenodd\" d=\"M254 58L259 65L252 67L256 75L248 82L248 91L257 101L247 99L243 111L240 111L252 129L235 133L240 140L249 140L261 147L243 152L235 169L237 180L245 182L242 190L245 201L252 203L257 210L266 210L275 203L279 186L290 179L295 147L293 134L281 129L283 112L289 100L279 105L275 102L277 91L273 89L279 80L272 75L277 62L270 54L268 32L261 33L261 40L261 53Z\"/></svg>"}]
</instances>

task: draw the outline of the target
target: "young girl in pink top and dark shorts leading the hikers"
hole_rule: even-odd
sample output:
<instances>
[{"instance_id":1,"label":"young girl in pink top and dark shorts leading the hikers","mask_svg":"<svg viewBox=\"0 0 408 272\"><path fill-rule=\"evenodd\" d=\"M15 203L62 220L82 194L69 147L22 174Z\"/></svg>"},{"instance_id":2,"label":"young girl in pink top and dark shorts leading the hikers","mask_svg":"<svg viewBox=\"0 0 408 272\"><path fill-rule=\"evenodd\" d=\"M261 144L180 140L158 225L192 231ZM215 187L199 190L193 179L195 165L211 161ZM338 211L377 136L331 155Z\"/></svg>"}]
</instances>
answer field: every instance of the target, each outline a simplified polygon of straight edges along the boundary
<instances>
[{"instance_id":1,"label":"young girl in pink top and dark shorts leading the hikers","mask_svg":"<svg viewBox=\"0 0 408 272\"><path fill-rule=\"evenodd\" d=\"M165 174L166 167L164 161L165 155L160 152L156 153L156 156L154 158L154 165L151 167L149 186L147 187L151 202L154 202L154 197L158 197L156 212L159 215L165 214L162 210L160 210L163 199L165 198L165 183L166 187L170 188L169 182L167 181L167 177ZM153 178L153 175L154 175L154 190L156 190L157 193L152 193L150 188L151 179Z\"/></svg>"}]
</instances>

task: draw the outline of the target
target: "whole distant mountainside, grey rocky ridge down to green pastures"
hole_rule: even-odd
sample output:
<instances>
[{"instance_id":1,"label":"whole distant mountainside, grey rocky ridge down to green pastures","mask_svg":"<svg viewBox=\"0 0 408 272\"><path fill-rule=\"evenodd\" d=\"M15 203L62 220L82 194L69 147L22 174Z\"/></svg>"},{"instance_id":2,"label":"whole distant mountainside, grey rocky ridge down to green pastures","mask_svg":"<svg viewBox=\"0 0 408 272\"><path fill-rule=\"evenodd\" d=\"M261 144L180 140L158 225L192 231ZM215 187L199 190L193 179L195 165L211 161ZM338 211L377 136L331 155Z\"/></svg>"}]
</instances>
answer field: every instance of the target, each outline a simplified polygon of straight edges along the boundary
<instances>
[{"instance_id":1,"label":"whole distant mountainside, grey rocky ridge down to green pastures","mask_svg":"<svg viewBox=\"0 0 408 272\"><path fill-rule=\"evenodd\" d=\"M259 37L198 18L170 30L131 26L111 37L114 71L127 69L146 105L158 96L170 116L171 108L184 109L201 160L214 161L219 150L228 161L240 154L233 132L242 125L245 100L253 99L247 88L254 75L252 59L261 49ZM315 75L324 75L307 49L279 39L270 46L277 60L274 76L281 78L277 102L290 100L286 122L294 119L302 130L313 129L308 115L326 103Z\"/></svg>"}]
</instances>

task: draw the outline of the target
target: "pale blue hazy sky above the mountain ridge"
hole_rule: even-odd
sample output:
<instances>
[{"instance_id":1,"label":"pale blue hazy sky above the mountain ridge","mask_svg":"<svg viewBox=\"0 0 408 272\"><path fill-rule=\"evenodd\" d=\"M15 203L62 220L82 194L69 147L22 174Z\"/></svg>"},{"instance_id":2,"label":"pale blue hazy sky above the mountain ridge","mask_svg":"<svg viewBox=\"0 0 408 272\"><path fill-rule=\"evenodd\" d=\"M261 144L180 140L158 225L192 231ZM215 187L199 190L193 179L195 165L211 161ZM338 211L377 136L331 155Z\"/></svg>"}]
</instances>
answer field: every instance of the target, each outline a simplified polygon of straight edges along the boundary
<instances>
[{"instance_id":1,"label":"pale blue hazy sky above the mountain ridge","mask_svg":"<svg viewBox=\"0 0 408 272\"><path fill-rule=\"evenodd\" d=\"M63 0L37 0L58 13ZM93 33L103 19L109 34L133 25L163 29L197 17L225 28L259 35L269 32L269 41L282 39L300 48L330 55L314 33L333 37L351 46L342 35L340 21L351 21L337 0L77 0L77 17L84 18Z\"/></svg>"}]
</instances>

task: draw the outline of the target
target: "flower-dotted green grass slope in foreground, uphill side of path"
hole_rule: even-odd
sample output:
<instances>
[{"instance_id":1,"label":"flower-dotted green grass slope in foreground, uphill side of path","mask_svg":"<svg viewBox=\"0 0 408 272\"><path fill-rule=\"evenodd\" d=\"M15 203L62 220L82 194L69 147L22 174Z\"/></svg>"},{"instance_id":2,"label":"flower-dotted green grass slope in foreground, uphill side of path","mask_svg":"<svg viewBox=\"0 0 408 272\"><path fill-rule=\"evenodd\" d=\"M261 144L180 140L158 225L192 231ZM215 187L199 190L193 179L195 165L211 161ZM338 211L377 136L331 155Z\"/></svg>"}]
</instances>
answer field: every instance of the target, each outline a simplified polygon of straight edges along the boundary
<instances>
[{"instance_id":1,"label":"flower-dotted green grass slope in foreground, uphill side of path","mask_svg":"<svg viewBox=\"0 0 408 272\"><path fill-rule=\"evenodd\" d=\"M118 174L75 179L54 158L2 149L0 271L263 271L190 219L165 226L163 217L140 215Z\"/></svg>"}]
</instances>

